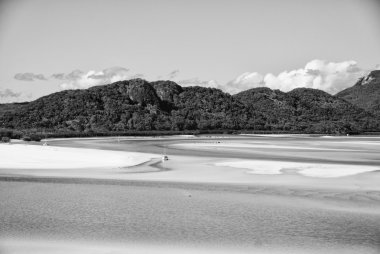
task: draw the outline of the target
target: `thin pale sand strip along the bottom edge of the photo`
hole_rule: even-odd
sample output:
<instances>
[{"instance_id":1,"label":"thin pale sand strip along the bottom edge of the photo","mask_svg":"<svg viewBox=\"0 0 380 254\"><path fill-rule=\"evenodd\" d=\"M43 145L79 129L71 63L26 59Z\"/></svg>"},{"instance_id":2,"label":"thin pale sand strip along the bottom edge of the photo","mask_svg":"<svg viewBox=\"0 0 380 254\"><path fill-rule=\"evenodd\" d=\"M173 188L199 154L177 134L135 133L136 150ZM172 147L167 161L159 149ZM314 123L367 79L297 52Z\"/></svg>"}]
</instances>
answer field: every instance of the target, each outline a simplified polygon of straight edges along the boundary
<instances>
[{"instance_id":1,"label":"thin pale sand strip along the bottom edge of the photo","mask_svg":"<svg viewBox=\"0 0 380 254\"><path fill-rule=\"evenodd\" d=\"M317 254L317 253L365 253L374 254L376 250L366 246L351 246L335 244L320 246L318 248L297 248L287 246L257 246L245 247L237 245L181 245L152 244L140 242L102 242L102 241L69 241L69 240L42 240L42 239L0 239L2 254L171 254L171 253L257 253L257 254Z\"/></svg>"}]
</instances>

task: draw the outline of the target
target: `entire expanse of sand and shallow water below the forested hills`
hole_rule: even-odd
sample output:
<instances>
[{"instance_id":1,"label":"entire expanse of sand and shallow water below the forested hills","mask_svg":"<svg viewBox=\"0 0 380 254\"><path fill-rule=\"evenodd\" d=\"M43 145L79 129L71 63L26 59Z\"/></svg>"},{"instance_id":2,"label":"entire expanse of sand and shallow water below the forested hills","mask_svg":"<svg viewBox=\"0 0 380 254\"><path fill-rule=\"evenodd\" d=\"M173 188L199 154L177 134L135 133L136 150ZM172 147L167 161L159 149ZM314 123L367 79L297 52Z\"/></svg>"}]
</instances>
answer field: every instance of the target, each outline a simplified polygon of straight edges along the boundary
<instances>
[{"instance_id":1,"label":"entire expanse of sand and shallow water below the forested hills","mask_svg":"<svg viewBox=\"0 0 380 254\"><path fill-rule=\"evenodd\" d=\"M2 144L0 253L378 253L379 143L285 135Z\"/></svg>"}]
</instances>

